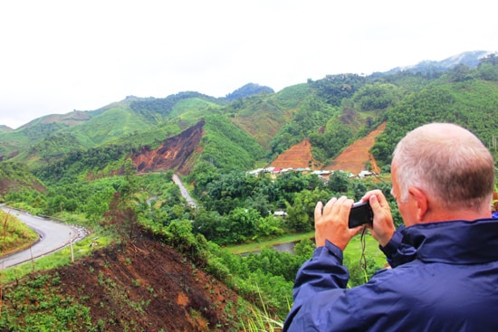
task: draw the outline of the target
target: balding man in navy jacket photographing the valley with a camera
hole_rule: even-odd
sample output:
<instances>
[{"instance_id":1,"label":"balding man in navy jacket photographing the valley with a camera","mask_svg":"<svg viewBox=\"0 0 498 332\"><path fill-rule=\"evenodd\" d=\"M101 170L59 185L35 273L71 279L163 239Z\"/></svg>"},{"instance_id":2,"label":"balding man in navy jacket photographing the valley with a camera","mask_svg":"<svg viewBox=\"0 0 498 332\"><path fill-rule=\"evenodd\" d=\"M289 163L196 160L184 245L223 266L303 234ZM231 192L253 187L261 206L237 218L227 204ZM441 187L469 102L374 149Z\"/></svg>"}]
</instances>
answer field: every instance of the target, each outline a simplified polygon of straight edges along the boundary
<instances>
[{"instance_id":1,"label":"balding man in navy jacket photographing the valley with a camera","mask_svg":"<svg viewBox=\"0 0 498 332\"><path fill-rule=\"evenodd\" d=\"M386 197L363 197L369 228L392 269L347 289L342 251L353 201L315 208L317 249L296 277L283 331L498 331L498 221L492 219L494 164L464 128L434 123L397 145L392 194L406 227L395 231Z\"/></svg>"}]
</instances>

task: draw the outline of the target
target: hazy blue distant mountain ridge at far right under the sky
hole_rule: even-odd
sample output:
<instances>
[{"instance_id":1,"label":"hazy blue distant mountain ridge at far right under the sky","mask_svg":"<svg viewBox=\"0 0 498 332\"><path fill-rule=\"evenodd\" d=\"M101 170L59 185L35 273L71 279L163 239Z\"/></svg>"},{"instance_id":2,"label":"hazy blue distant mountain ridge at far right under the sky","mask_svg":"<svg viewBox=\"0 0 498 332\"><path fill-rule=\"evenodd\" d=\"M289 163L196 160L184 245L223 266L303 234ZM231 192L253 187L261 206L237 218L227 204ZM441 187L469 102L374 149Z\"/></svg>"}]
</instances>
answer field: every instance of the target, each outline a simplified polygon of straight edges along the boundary
<instances>
[{"instance_id":1,"label":"hazy blue distant mountain ridge at far right under the sky","mask_svg":"<svg viewBox=\"0 0 498 332\"><path fill-rule=\"evenodd\" d=\"M496 52L490 51L472 51L472 52L463 52L446 58L442 61L431 61L425 60L422 62L418 62L415 65L405 66L405 67L396 67L391 69L390 71L383 72L383 74L392 74L397 71L411 71L411 72L428 72L428 71L447 71L449 69L455 68L458 64L464 64L467 67L477 67L479 61L486 56L493 54Z\"/></svg>"}]
</instances>

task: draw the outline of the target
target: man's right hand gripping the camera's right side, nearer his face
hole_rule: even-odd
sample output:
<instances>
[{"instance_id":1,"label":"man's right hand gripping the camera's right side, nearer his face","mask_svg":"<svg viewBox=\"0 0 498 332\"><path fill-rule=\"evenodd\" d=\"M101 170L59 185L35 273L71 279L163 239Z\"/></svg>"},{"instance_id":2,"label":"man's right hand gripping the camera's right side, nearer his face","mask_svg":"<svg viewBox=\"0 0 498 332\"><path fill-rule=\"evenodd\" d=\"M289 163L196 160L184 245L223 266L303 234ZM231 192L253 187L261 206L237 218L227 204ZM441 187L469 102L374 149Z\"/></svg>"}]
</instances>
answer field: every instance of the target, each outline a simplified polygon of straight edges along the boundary
<instances>
[{"instance_id":1,"label":"man's right hand gripping the camera's right side, nearer his face","mask_svg":"<svg viewBox=\"0 0 498 332\"><path fill-rule=\"evenodd\" d=\"M386 196L376 189L369 191L361 200L368 200L374 213L373 223L367 226L370 233L381 246L385 247L396 231Z\"/></svg>"}]
</instances>

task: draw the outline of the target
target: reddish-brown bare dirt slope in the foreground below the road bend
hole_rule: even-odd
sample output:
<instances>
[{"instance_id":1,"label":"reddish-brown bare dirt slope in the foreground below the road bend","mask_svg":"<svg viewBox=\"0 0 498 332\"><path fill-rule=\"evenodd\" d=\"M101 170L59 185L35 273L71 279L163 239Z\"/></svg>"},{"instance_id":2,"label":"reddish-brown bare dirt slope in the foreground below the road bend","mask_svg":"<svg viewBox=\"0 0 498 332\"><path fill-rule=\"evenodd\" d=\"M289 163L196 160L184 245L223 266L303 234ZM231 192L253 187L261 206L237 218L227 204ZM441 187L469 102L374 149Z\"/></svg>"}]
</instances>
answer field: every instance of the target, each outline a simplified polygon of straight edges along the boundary
<instances>
[{"instance_id":1,"label":"reddish-brown bare dirt slope in the foreground below the road bend","mask_svg":"<svg viewBox=\"0 0 498 332\"><path fill-rule=\"evenodd\" d=\"M43 288L90 308L92 324L100 321L102 331L228 331L234 327L231 319L238 322L238 296L232 289L173 248L150 239L95 251L91 258L46 273L53 275L49 280L58 273L61 282L53 287L49 281ZM15 287L3 289L3 296L15 293ZM27 322L34 314L30 310L40 313L43 306L28 295L25 301L25 308L17 301L11 309L25 315L19 321ZM3 305L13 303L5 300ZM72 328L85 330L83 324Z\"/></svg>"}]
</instances>

